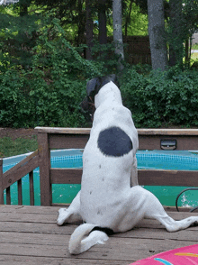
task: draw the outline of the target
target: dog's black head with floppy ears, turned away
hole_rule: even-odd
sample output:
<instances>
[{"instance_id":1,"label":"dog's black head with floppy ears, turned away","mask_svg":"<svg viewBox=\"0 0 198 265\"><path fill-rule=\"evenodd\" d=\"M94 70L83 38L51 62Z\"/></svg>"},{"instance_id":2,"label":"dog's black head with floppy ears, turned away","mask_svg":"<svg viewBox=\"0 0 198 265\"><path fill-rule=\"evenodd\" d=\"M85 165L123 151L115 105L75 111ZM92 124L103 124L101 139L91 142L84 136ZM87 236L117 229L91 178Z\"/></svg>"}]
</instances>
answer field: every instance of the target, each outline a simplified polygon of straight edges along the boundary
<instances>
[{"instance_id":1,"label":"dog's black head with floppy ears, turned away","mask_svg":"<svg viewBox=\"0 0 198 265\"><path fill-rule=\"evenodd\" d=\"M115 85L118 85L117 77L115 75L102 77L102 78L93 78L89 80L86 84L86 95L84 100L81 102L80 106L85 112L88 112L92 118L94 115L94 96L98 94L101 87L113 82Z\"/></svg>"}]
</instances>

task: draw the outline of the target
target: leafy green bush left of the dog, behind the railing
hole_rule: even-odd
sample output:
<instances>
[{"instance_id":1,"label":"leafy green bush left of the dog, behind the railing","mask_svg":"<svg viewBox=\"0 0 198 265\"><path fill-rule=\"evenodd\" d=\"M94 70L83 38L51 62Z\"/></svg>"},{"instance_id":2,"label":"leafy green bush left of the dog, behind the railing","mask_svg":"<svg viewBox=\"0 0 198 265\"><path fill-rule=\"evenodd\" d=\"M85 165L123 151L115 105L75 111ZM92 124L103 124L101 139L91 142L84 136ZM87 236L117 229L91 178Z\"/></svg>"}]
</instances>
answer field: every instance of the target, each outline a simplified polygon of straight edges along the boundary
<instances>
[{"instance_id":1,"label":"leafy green bush left of the dog, behind the railing","mask_svg":"<svg viewBox=\"0 0 198 265\"><path fill-rule=\"evenodd\" d=\"M78 127L85 123L79 107L85 96L85 80L58 75L51 82L43 79L40 70L29 75L10 70L0 76L0 126Z\"/></svg>"}]
</instances>

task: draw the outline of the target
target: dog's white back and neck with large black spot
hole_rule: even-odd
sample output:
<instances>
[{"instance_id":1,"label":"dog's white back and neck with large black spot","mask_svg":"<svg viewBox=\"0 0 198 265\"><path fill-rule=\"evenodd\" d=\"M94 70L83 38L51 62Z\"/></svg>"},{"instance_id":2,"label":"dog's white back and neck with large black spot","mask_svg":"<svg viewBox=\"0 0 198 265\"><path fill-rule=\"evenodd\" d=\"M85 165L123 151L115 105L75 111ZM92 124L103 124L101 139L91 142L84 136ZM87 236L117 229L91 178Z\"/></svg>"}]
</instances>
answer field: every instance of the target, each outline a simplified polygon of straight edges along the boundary
<instances>
[{"instance_id":1,"label":"dog's white back and neck with large black spot","mask_svg":"<svg viewBox=\"0 0 198 265\"><path fill-rule=\"evenodd\" d=\"M81 214L85 222L112 227L130 189L138 134L130 110L112 82L95 96L96 111L83 154Z\"/></svg>"}]
</instances>

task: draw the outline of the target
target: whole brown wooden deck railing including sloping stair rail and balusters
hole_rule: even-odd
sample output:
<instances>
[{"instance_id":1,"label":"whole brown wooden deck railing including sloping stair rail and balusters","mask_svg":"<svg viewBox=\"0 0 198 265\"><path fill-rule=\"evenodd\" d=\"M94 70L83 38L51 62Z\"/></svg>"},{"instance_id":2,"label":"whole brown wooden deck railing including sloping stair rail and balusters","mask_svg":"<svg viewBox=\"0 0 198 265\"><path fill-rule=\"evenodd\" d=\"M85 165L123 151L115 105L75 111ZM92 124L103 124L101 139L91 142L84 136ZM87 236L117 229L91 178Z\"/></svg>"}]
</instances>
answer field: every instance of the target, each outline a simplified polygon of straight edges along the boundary
<instances>
[{"instance_id":1,"label":"whole brown wooden deck railing including sloping stair rail and balusters","mask_svg":"<svg viewBox=\"0 0 198 265\"><path fill-rule=\"evenodd\" d=\"M80 184L82 169L51 169L51 149L84 149L90 129L36 127L39 150L33 152L14 168L2 172L0 160L0 204L10 204L10 186L17 181L19 205L22 204L21 178L29 173L31 205L33 205L33 173L40 167L40 205L52 204L52 184ZM139 129L139 150L198 150L198 129ZM198 171L139 169L139 185L198 187Z\"/></svg>"}]
</instances>

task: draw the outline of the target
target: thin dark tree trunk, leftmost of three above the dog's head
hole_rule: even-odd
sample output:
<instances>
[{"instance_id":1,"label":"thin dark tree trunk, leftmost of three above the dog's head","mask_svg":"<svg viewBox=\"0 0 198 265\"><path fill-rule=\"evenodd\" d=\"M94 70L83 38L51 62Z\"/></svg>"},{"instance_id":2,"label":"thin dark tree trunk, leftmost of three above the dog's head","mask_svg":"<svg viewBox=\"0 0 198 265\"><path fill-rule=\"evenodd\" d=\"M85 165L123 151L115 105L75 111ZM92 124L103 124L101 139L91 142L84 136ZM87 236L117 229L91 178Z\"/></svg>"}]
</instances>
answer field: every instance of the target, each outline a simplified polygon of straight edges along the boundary
<instances>
[{"instance_id":1,"label":"thin dark tree trunk, leftmost of three above the dog's head","mask_svg":"<svg viewBox=\"0 0 198 265\"><path fill-rule=\"evenodd\" d=\"M92 47L93 47L94 23L91 12L91 0L85 1L85 16L86 16L86 24L85 24L86 45L88 46L88 48L86 49L86 59L93 59Z\"/></svg>"}]
</instances>

